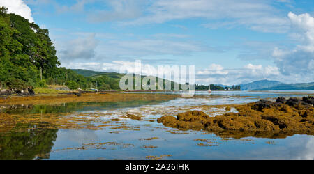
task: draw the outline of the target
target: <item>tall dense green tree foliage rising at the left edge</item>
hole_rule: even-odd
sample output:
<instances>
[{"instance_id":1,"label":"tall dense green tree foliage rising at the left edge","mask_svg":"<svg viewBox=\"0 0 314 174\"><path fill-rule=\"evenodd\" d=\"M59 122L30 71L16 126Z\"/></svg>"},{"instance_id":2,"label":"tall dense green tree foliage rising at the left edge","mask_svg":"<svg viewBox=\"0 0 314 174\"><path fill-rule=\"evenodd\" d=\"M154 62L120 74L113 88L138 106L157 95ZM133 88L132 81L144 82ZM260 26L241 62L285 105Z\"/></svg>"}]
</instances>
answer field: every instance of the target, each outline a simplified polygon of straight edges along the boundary
<instances>
[{"instance_id":1,"label":"tall dense green tree foliage rising at the left edge","mask_svg":"<svg viewBox=\"0 0 314 174\"><path fill-rule=\"evenodd\" d=\"M47 29L0 8L0 81L38 82L39 70L49 77L60 65Z\"/></svg>"}]
</instances>

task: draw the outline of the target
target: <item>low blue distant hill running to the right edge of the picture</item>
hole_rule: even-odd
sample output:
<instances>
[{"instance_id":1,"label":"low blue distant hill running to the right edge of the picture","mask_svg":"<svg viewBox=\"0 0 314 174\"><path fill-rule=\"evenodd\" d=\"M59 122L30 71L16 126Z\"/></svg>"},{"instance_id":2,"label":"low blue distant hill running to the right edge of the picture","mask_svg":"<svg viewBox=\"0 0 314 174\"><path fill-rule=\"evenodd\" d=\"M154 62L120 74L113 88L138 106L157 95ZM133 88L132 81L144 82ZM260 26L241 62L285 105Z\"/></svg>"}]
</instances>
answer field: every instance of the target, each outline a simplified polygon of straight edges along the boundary
<instances>
[{"instance_id":1,"label":"low blue distant hill running to the right edge of the picture","mask_svg":"<svg viewBox=\"0 0 314 174\"><path fill-rule=\"evenodd\" d=\"M301 84L280 84L269 88L261 88L259 90L314 90L314 82Z\"/></svg>"}]
</instances>

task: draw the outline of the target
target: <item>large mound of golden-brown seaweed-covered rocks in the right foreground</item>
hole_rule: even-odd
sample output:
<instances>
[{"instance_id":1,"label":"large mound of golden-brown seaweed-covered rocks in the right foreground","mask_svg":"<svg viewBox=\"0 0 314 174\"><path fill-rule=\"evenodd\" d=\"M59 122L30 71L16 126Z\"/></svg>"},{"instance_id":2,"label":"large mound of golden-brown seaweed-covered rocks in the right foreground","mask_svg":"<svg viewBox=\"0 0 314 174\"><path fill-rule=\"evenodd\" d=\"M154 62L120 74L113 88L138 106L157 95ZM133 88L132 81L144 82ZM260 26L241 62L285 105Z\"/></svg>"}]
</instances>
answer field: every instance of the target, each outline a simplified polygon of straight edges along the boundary
<instances>
[{"instance_id":1,"label":"large mound of golden-brown seaweed-covered rocks in the right foreground","mask_svg":"<svg viewBox=\"0 0 314 174\"><path fill-rule=\"evenodd\" d=\"M165 116L157 119L167 127L207 130L232 137L285 137L293 134L314 134L313 97L278 97L276 102L260 100L236 106L238 113L225 113L209 117L203 111L179 113L177 118Z\"/></svg>"}]
</instances>

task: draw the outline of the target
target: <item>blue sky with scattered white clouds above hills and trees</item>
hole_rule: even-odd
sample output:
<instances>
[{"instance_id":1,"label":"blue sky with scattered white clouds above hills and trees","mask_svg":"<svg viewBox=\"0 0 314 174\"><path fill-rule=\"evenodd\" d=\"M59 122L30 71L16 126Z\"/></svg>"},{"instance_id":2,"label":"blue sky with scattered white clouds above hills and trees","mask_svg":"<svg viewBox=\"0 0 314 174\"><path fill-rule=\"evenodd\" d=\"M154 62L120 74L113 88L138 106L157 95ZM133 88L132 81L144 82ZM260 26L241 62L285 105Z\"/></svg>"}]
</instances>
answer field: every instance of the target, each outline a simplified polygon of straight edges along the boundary
<instances>
[{"instance_id":1,"label":"blue sky with scattered white clouds above hills and trees","mask_svg":"<svg viewBox=\"0 0 314 174\"><path fill-rule=\"evenodd\" d=\"M0 0L49 29L62 67L195 65L197 84L314 81L313 0Z\"/></svg>"}]
</instances>

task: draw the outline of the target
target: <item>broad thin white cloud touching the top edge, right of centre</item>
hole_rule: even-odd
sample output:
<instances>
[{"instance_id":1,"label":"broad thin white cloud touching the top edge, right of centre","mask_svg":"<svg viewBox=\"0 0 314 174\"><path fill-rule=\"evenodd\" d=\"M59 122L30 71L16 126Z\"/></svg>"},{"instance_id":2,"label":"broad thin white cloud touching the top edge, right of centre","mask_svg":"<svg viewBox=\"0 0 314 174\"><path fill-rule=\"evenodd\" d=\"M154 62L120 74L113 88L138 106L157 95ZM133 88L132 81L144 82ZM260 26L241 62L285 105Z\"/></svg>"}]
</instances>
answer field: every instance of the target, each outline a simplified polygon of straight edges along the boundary
<instances>
[{"instance_id":1,"label":"broad thin white cloud touching the top edge, right of centre","mask_svg":"<svg viewBox=\"0 0 314 174\"><path fill-rule=\"evenodd\" d=\"M256 31L284 33L289 24L287 17L277 13L278 10L267 1L158 0L152 1L146 10L147 15L121 24L160 24L175 19L193 18L225 19L227 22L209 22L203 26L218 28L244 25Z\"/></svg>"}]
</instances>

